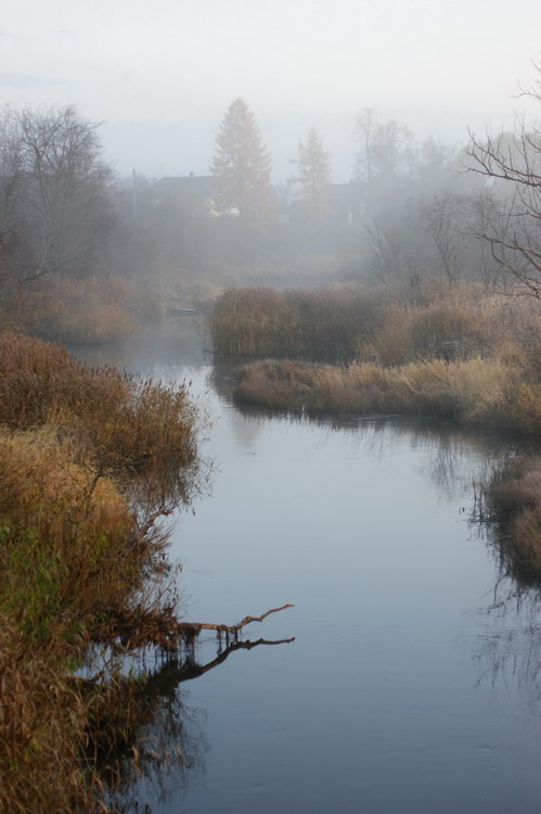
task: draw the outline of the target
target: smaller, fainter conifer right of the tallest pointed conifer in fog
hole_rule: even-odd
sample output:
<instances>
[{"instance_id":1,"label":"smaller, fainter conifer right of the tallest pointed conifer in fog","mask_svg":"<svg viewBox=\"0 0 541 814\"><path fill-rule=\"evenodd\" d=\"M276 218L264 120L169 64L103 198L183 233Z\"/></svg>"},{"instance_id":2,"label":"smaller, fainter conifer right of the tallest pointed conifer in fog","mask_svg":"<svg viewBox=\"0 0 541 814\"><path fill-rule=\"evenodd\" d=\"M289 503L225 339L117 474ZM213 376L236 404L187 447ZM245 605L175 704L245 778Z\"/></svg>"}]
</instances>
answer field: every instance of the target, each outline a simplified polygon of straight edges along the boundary
<instances>
[{"instance_id":1,"label":"smaller, fainter conifer right of the tallest pointed conifer in fog","mask_svg":"<svg viewBox=\"0 0 541 814\"><path fill-rule=\"evenodd\" d=\"M298 158L292 163L297 174L289 178L289 183L295 186L297 196L305 202L310 218L322 221L329 213L329 153L314 127L306 142L299 141Z\"/></svg>"}]
</instances>

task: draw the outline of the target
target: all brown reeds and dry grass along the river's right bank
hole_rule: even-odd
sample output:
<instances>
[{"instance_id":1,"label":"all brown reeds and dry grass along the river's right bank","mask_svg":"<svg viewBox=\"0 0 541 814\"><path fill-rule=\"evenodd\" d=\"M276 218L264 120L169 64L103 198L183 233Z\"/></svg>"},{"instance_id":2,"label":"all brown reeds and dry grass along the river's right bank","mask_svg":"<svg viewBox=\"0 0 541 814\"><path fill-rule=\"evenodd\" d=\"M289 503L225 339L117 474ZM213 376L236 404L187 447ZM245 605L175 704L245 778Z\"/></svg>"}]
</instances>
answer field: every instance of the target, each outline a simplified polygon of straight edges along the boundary
<instances>
[{"instance_id":1,"label":"all brown reeds and dry grass along the river's right bank","mask_svg":"<svg viewBox=\"0 0 541 814\"><path fill-rule=\"evenodd\" d=\"M253 359L237 368L237 403L541 433L541 313L533 297L513 301L430 278L318 291L239 289L218 300L209 328L216 354ZM498 470L485 484L484 506L513 569L541 577L539 456Z\"/></svg>"}]
</instances>

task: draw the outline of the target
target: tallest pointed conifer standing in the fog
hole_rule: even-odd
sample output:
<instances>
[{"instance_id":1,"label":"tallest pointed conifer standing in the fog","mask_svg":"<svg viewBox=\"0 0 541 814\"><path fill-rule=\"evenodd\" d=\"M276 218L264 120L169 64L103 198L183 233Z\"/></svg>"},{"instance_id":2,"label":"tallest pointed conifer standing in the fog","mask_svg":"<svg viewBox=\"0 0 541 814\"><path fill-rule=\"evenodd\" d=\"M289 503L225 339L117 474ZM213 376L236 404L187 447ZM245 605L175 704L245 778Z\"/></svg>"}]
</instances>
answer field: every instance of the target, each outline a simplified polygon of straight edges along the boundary
<instances>
[{"instance_id":1,"label":"tallest pointed conifer standing in the fog","mask_svg":"<svg viewBox=\"0 0 541 814\"><path fill-rule=\"evenodd\" d=\"M236 208L247 220L259 220L269 213L271 160L243 99L235 99L226 111L210 171L221 212Z\"/></svg>"}]
</instances>

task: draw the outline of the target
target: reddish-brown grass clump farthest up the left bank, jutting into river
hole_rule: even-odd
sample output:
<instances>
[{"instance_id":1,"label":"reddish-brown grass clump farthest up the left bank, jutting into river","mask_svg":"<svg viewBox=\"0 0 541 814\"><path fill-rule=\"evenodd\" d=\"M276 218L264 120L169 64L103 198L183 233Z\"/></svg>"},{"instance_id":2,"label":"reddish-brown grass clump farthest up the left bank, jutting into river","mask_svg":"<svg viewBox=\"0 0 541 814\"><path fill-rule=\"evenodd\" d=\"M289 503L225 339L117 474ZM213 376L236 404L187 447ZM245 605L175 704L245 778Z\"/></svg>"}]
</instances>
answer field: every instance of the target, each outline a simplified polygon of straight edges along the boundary
<instances>
[{"instance_id":1,"label":"reddish-brown grass clump farthest up the left bank, jutting into river","mask_svg":"<svg viewBox=\"0 0 541 814\"><path fill-rule=\"evenodd\" d=\"M100 466L144 469L196 458L196 409L184 385L90 368L64 348L0 335L0 423L76 432Z\"/></svg>"}]
</instances>

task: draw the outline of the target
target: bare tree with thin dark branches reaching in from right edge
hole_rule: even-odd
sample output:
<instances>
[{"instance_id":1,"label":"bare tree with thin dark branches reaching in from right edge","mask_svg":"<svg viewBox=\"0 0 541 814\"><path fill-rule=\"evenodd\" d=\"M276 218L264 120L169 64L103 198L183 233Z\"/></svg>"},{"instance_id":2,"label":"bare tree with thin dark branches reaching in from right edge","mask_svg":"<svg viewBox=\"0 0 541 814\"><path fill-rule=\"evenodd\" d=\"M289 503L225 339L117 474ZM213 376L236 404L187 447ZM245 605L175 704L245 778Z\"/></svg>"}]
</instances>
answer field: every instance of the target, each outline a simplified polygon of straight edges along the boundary
<instances>
[{"instance_id":1,"label":"bare tree with thin dark branches reaching in from right edge","mask_svg":"<svg viewBox=\"0 0 541 814\"><path fill-rule=\"evenodd\" d=\"M536 65L541 76L541 65ZM541 102L541 79L528 96ZM541 129L519 120L513 137L471 133L468 169L490 179L492 202L479 237L512 282L512 292L541 300ZM505 194L507 193L507 194Z\"/></svg>"}]
</instances>

